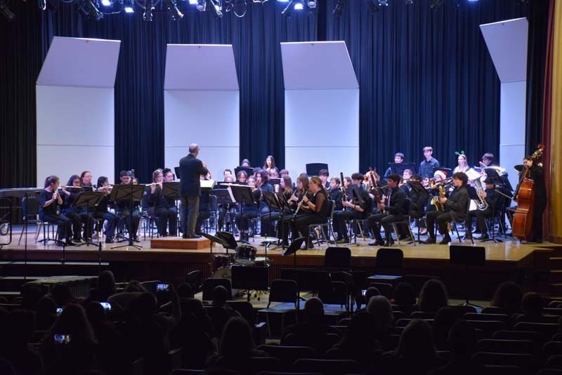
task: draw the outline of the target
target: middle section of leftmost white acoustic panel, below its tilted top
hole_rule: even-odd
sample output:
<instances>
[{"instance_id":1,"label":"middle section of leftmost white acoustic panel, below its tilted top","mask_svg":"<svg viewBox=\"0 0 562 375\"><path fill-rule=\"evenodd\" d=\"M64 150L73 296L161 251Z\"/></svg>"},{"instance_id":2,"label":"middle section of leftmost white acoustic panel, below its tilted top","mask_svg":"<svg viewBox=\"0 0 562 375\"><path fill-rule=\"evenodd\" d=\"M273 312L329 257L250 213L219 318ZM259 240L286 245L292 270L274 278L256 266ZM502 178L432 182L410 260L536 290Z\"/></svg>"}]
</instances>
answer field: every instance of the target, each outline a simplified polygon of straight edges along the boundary
<instances>
[{"instance_id":1,"label":"middle section of leftmost white acoustic panel, below its tilted top","mask_svg":"<svg viewBox=\"0 0 562 375\"><path fill-rule=\"evenodd\" d=\"M37 145L114 145L113 88L37 86Z\"/></svg>"}]
</instances>

